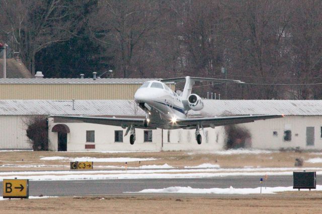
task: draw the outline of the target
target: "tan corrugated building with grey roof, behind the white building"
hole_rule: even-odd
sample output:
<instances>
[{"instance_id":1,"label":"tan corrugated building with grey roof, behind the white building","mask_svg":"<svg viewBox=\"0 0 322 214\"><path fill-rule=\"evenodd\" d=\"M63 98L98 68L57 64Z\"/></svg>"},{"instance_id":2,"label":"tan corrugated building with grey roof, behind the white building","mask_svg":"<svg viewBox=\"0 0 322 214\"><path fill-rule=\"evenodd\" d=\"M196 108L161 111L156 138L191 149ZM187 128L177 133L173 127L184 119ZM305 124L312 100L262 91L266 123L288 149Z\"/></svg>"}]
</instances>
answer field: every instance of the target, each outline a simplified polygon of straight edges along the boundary
<instances>
[{"instance_id":1,"label":"tan corrugated building with grey roof, behind the white building","mask_svg":"<svg viewBox=\"0 0 322 214\"><path fill-rule=\"evenodd\" d=\"M0 78L1 99L133 99L140 78ZM171 86L174 89L174 85Z\"/></svg>"}]
</instances>

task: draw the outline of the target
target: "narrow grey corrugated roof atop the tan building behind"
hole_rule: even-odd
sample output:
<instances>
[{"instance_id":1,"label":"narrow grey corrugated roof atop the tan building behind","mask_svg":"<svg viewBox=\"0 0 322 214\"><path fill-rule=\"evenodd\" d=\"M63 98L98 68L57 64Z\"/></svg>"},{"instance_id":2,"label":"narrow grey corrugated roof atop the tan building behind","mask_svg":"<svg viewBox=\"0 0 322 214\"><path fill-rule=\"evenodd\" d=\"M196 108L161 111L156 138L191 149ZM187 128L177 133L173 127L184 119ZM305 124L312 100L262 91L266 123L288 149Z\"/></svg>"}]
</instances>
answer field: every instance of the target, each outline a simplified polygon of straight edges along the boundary
<instances>
[{"instance_id":1,"label":"narrow grey corrugated roof atop the tan building behind","mask_svg":"<svg viewBox=\"0 0 322 214\"><path fill-rule=\"evenodd\" d=\"M142 84L148 78L0 78L0 84Z\"/></svg>"}]
</instances>

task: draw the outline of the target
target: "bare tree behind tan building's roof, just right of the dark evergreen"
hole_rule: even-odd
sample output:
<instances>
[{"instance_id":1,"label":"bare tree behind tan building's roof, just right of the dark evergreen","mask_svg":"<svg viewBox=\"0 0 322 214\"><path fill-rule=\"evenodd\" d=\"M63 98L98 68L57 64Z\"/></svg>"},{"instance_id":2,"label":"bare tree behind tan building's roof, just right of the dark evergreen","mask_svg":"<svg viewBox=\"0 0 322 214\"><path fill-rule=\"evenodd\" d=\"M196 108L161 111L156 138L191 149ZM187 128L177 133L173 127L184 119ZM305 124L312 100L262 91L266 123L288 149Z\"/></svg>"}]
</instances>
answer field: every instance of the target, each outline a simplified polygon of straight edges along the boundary
<instances>
[{"instance_id":1,"label":"bare tree behind tan building's roof, just right of the dark evergreen","mask_svg":"<svg viewBox=\"0 0 322 214\"><path fill-rule=\"evenodd\" d=\"M133 56L159 26L159 4L152 0L102 0L100 5L89 26L94 38L113 55L116 70L122 72L117 75L127 78Z\"/></svg>"}]
</instances>

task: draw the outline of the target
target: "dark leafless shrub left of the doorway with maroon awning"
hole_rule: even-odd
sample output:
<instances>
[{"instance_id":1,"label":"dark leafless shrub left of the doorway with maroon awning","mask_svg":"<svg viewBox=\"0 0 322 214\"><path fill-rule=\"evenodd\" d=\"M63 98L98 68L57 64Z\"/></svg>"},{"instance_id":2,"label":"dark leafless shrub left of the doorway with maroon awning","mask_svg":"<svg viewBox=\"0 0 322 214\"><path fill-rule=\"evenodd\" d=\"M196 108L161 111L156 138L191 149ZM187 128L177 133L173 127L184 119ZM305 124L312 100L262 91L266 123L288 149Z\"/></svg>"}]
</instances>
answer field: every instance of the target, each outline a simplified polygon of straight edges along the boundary
<instances>
[{"instance_id":1,"label":"dark leafless shrub left of the doorway with maroon awning","mask_svg":"<svg viewBox=\"0 0 322 214\"><path fill-rule=\"evenodd\" d=\"M25 122L27 137L34 151L48 150L48 120L45 116L33 116Z\"/></svg>"}]
</instances>

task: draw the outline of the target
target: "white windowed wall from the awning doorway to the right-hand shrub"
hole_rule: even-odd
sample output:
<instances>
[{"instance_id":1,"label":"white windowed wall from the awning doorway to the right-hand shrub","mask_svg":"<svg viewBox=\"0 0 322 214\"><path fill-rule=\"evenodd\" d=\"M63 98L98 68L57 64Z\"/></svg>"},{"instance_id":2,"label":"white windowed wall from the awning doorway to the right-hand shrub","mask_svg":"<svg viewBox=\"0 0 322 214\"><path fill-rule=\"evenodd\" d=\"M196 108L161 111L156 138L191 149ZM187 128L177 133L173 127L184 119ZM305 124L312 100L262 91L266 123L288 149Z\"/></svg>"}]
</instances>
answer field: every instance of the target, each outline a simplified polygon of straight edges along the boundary
<instances>
[{"instance_id":1,"label":"white windowed wall from the awning doorway to the right-hand shrub","mask_svg":"<svg viewBox=\"0 0 322 214\"><path fill-rule=\"evenodd\" d=\"M152 142L144 142L144 130L135 129L136 141L130 145L129 134L123 137L123 143L114 142L114 131L126 129L116 126L106 126L87 123L64 123L69 127L67 134L67 151L180 151L180 150L220 150L222 148L223 135L220 135L222 128L205 129L207 137L203 137L203 143L198 145L195 140L194 130L171 130L171 142L168 143L168 130L152 130ZM57 151L57 133L51 132L56 125L53 119L49 118L49 149ZM95 143L86 143L86 131L95 131ZM219 132L218 132L219 131ZM163 132L163 138L162 138ZM162 143L163 140L163 143ZM85 149L85 145L95 144L95 149Z\"/></svg>"}]
</instances>

